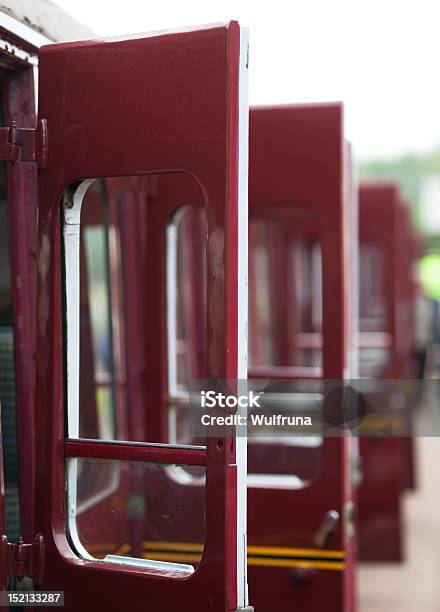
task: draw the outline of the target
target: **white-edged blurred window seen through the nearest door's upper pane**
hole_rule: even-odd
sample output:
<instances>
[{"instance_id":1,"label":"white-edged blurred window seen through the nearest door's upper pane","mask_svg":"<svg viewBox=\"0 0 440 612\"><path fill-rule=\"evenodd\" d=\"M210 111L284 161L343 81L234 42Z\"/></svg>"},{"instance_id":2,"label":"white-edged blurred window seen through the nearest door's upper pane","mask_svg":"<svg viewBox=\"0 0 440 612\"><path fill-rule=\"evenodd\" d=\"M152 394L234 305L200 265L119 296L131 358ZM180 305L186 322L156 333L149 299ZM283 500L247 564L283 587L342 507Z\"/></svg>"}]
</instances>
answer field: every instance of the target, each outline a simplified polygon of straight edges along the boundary
<instances>
[{"instance_id":1,"label":"white-edged blurred window seen through the nearest door's upper pane","mask_svg":"<svg viewBox=\"0 0 440 612\"><path fill-rule=\"evenodd\" d=\"M190 428L189 392L207 370L206 215L182 207L167 228L169 442L200 444Z\"/></svg>"}]
</instances>

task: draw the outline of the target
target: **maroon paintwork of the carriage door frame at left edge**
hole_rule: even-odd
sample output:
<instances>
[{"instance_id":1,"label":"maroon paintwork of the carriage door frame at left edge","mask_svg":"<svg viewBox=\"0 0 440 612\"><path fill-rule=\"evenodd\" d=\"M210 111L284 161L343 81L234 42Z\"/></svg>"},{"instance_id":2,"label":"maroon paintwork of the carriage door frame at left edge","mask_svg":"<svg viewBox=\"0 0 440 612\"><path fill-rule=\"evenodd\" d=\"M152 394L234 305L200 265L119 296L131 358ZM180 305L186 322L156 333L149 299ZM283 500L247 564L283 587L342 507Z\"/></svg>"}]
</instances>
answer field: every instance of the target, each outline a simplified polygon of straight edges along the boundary
<instances>
[{"instance_id":1,"label":"maroon paintwork of the carriage door frame at left edge","mask_svg":"<svg viewBox=\"0 0 440 612\"><path fill-rule=\"evenodd\" d=\"M11 34L3 32L6 39ZM15 40L35 52L31 45ZM2 78L5 125L35 126L33 68L14 56L3 57L8 70ZM35 352L37 291L37 168L33 163L7 164L7 199L14 323L17 431L20 448L20 524L32 541L35 475Z\"/></svg>"}]
</instances>

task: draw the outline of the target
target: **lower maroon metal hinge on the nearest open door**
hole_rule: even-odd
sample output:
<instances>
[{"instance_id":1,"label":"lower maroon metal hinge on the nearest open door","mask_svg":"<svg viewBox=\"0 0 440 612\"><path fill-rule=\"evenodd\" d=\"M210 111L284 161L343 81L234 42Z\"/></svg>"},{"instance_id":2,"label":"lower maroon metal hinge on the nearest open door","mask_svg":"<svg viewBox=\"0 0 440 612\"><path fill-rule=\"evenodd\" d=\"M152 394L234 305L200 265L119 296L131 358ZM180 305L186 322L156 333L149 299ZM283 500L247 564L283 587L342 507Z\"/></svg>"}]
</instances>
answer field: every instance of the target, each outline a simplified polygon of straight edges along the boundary
<instances>
[{"instance_id":1,"label":"lower maroon metal hinge on the nearest open door","mask_svg":"<svg viewBox=\"0 0 440 612\"><path fill-rule=\"evenodd\" d=\"M4 535L1 538L1 571L2 584L6 585L10 577L27 576L36 584L43 581L44 539L41 534L35 537L33 544L25 544L19 538L15 544L8 542Z\"/></svg>"}]
</instances>

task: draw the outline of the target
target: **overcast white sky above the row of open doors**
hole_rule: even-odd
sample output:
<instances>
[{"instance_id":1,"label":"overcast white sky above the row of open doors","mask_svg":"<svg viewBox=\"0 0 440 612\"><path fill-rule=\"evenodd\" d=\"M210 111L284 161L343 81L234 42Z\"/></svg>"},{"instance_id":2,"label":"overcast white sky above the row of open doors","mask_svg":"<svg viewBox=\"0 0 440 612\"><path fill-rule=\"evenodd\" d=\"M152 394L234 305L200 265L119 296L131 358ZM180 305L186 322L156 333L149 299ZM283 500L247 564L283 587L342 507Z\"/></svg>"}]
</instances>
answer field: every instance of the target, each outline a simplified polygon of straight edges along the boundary
<instances>
[{"instance_id":1,"label":"overcast white sky above the row of open doors","mask_svg":"<svg viewBox=\"0 0 440 612\"><path fill-rule=\"evenodd\" d=\"M238 19L250 102L342 100L358 157L440 145L439 0L55 0L102 36Z\"/></svg>"}]
</instances>

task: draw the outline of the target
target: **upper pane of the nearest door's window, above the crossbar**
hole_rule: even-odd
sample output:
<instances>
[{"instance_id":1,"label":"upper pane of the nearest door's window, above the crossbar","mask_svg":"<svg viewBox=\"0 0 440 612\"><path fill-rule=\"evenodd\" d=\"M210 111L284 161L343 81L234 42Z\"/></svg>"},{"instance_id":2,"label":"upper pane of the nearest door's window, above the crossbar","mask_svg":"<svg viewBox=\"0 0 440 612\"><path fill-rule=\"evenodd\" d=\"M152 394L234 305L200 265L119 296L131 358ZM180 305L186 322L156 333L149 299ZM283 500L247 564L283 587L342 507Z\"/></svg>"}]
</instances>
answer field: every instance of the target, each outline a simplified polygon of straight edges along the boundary
<instances>
[{"instance_id":1,"label":"upper pane of the nearest door's window, above the crossbar","mask_svg":"<svg viewBox=\"0 0 440 612\"><path fill-rule=\"evenodd\" d=\"M65 205L70 437L204 443L188 434L187 410L192 382L208 378L206 215L201 205L185 205L158 218L154 202L170 176L155 177L152 196L147 183L143 201L139 194L130 199L123 179L100 179L80 188L80 203ZM137 241L133 226L144 228ZM154 266L145 251L153 238ZM160 392L162 376L168 388ZM169 409L165 429L161 402Z\"/></svg>"}]
</instances>

